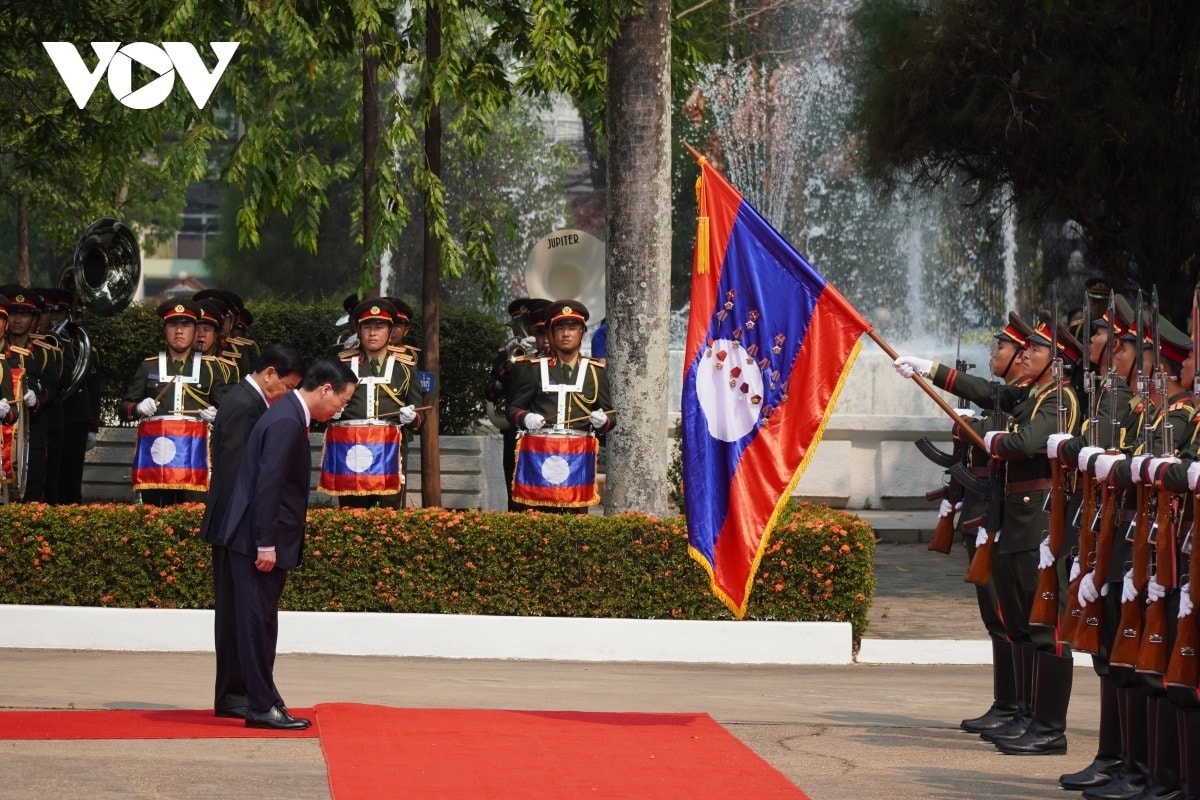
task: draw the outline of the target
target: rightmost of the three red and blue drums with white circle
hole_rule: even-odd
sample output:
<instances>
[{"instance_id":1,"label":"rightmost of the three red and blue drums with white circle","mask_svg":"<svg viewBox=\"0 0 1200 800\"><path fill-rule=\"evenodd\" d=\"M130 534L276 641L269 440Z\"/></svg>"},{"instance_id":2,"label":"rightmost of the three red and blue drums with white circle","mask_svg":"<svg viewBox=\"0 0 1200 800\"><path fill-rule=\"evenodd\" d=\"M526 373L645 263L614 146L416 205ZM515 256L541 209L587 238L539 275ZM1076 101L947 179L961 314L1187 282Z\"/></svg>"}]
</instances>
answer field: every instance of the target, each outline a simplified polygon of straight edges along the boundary
<instances>
[{"instance_id":1,"label":"rightmost of the three red and blue drums with white circle","mask_svg":"<svg viewBox=\"0 0 1200 800\"><path fill-rule=\"evenodd\" d=\"M527 431L517 439L512 499L528 506L594 506L600 503L599 457L600 444L590 432Z\"/></svg>"}]
</instances>

